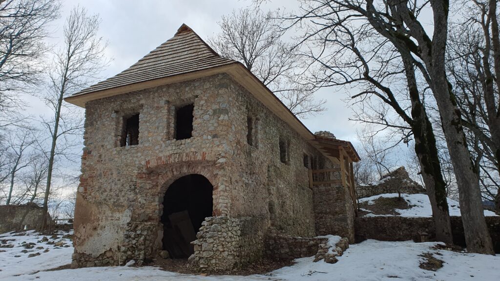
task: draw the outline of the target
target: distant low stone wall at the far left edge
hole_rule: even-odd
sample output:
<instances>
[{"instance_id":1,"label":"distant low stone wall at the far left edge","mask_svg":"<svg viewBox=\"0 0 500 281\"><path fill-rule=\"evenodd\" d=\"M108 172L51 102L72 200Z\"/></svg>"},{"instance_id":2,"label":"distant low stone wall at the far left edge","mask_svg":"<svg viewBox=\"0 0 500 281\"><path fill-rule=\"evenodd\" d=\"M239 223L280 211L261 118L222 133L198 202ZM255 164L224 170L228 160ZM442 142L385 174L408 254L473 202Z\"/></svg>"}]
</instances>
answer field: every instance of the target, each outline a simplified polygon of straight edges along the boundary
<instances>
[{"instance_id":1,"label":"distant low stone wall at the far left edge","mask_svg":"<svg viewBox=\"0 0 500 281\"><path fill-rule=\"evenodd\" d=\"M36 229L41 227L43 209L34 203L24 205L0 206L0 233L23 229ZM47 214L47 222L53 224Z\"/></svg>"}]
</instances>

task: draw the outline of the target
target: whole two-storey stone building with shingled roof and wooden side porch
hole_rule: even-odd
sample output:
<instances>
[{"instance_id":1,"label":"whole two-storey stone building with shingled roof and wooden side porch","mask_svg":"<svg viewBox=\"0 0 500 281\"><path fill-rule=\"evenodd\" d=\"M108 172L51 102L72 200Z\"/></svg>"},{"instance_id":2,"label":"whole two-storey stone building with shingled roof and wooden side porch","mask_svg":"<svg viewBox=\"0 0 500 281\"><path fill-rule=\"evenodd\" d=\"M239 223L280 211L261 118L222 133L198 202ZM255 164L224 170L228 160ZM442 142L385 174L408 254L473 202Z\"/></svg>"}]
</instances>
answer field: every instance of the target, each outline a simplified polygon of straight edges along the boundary
<instances>
[{"instance_id":1,"label":"whole two-storey stone building with shingled roof and wooden side porch","mask_svg":"<svg viewBox=\"0 0 500 281\"><path fill-rule=\"evenodd\" d=\"M73 266L167 250L228 269L260 258L270 229L353 240L351 143L311 133L184 24L65 100L85 108Z\"/></svg>"}]
</instances>

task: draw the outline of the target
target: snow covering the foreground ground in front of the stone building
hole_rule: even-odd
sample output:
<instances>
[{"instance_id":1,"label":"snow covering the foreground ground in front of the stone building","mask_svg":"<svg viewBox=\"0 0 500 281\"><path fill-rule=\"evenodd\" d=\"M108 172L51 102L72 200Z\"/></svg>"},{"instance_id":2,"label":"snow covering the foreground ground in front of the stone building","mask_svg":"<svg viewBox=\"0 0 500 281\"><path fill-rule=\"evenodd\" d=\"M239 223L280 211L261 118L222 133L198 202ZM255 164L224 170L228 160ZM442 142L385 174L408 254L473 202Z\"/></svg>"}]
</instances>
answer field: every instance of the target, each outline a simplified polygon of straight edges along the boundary
<instances>
[{"instance_id":1,"label":"snow covering the foreground ground in front of the stone building","mask_svg":"<svg viewBox=\"0 0 500 281\"><path fill-rule=\"evenodd\" d=\"M0 239L16 239L36 242L42 236L29 233L29 236L0 235ZM25 237L25 238L22 238ZM333 237L332 237L333 239ZM37 243L43 244L43 243ZM27 258L19 255L22 247L14 247L0 252L0 280L103 280L103 281L142 281L180 280L180 281L394 281L394 280L439 280L461 281L480 280L495 281L500 272L500 256L458 253L442 249L431 249L434 242L414 243L412 241L387 242L366 240L351 245L344 254L338 257L335 264L322 260L312 262L313 257L296 259L296 264L283 267L268 274L250 276L216 276L188 275L160 270L156 267L90 267L64 269L55 271L39 271L54 268L71 261L72 247L50 249L40 256ZM5 249L5 248L2 248ZM14 250L16 250L14 252ZM422 253L434 253L434 257L445 261L437 271L429 271L418 267ZM438 252L439 254L435 254ZM36 273L33 273L36 272Z\"/></svg>"}]
</instances>

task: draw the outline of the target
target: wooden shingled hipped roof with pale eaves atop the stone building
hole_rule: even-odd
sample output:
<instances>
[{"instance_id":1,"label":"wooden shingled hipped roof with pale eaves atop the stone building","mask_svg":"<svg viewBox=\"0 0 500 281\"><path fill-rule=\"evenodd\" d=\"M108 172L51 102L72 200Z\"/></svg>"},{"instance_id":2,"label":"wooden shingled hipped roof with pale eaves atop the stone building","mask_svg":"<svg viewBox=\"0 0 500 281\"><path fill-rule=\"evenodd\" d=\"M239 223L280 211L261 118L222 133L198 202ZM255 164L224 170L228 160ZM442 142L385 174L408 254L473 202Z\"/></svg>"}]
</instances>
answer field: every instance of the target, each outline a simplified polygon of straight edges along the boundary
<instances>
[{"instance_id":1,"label":"wooden shingled hipped roof with pale eaves atop the stone building","mask_svg":"<svg viewBox=\"0 0 500 281\"><path fill-rule=\"evenodd\" d=\"M359 160L359 156L350 142L344 141L340 144L336 140L335 143L331 142L330 145L326 145L325 142L329 142L329 140L318 139L317 136L314 136L279 98L243 64L221 57L185 24L177 29L172 38L150 51L132 66L72 94L64 100L85 107L85 103L90 100L218 73L229 74L256 99L327 156L337 156L338 151L342 150L347 151L352 161Z\"/></svg>"}]
</instances>

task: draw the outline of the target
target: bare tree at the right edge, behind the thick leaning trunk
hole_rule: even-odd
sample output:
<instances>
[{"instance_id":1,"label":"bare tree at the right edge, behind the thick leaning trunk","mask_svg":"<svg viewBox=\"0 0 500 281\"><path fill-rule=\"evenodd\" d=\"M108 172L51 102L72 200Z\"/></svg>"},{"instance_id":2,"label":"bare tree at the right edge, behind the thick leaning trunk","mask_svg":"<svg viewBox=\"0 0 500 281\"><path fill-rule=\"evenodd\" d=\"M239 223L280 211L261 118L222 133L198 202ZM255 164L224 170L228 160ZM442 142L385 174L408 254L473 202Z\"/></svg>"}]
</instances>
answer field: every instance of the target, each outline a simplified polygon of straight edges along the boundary
<instances>
[{"instance_id":1,"label":"bare tree at the right edge, behind the thick leaning trunk","mask_svg":"<svg viewBox=\"0 0 500 281\"><path fill-rule=\"evenodd\" d=\"M500 38L496 1L466 2L449 32L447 71L483 194L500 210ZM492 191L495 190L493 193Z\"/></svg>"}]
</instances>

